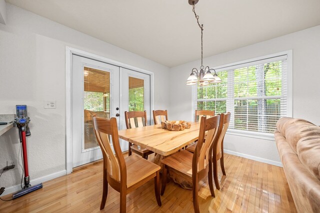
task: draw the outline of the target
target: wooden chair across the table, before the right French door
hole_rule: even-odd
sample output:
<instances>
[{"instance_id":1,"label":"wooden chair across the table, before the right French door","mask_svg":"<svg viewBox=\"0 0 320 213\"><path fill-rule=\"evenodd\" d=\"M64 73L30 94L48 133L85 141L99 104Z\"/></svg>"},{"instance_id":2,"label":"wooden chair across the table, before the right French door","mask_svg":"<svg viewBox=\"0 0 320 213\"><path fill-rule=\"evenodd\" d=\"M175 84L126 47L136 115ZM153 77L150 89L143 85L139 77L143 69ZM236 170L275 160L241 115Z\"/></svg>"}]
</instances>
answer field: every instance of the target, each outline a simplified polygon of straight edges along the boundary
<instances>
[{"instance_id":1,"label":"wooden chair across the table, before the right French door","mask_svg":"<svg viewBox=\"0 0 320 213\"><path fill-rule=\"evenodd\" d=\"M143 127L146 126L146 111L130 111L124 112L124 119L125 119L125 126L127 129L136 128L136 127ZM141 148L140 146L137 146L136 144L129 143L128 148L128 155L130 156L131 153L135 153L142 158L148 159L148 155L152 154L153 152L150 150L147 150L145 148Z\"/></svg>"}]
</instances>

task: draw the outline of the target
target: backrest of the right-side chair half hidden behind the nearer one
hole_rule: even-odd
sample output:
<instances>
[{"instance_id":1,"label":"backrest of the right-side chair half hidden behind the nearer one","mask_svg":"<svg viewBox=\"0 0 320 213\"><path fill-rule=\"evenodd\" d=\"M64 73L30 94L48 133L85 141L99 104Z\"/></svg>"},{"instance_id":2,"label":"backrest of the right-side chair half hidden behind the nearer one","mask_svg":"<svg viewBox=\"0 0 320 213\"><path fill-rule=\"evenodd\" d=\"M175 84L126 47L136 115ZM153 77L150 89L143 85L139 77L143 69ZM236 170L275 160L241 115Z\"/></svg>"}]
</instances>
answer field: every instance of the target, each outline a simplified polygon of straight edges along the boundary
<instances>
[{"instance_id":1,"label":"backrest of the right-side chair half hidden behind the nearer one","mask_svg":"<svg viewBox=\"0 0 320 213\"><path fill-rule=\"evenodd\" d=\"M223 113L220 114L220 124L219 124L219 130L217 133L217 139L215 140L213 145L213 155L215 155L217 159L221 158L221 154L222 154L221 144L223 143L224 135L226 133L226 130L228 129L230 118L231 118L230 112L226 114L223 114Z\"/></svg>"}]
</instances>

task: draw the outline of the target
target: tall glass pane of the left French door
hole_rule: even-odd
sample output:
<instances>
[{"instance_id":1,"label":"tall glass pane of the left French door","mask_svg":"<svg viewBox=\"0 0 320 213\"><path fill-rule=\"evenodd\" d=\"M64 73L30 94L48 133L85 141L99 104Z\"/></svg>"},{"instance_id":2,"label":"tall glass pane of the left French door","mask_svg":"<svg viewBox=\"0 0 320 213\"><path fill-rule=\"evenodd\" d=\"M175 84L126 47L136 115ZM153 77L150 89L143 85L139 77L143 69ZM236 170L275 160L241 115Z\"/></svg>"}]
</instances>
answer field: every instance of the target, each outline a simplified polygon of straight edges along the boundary
<instances>
[{"instance_id":1,"label":"tall glass pane of the left French door","mask_svg":"<svg viewBox=\"0 0 320 213\"><path fill-rule=\"evenodd\" d=\"M92 116L110 119L110 73L84 67L84 149L98 147Z\"/></svg>"}]
</instances>

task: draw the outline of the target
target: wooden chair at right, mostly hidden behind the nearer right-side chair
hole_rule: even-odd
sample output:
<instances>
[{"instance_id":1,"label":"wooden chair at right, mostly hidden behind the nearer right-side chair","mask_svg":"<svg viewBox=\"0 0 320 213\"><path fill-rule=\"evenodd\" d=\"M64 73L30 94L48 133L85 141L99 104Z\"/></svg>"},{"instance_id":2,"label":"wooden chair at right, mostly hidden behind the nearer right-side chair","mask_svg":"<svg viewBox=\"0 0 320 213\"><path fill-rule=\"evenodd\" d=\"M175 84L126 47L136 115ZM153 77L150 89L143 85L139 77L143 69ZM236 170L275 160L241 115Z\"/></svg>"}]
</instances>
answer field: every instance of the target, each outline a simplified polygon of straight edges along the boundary
<instances>
[{"instance_id":1,"label":"wooden chair at right, mostly hidden behind the nearer right-side chair","mask_svg":"<svg viewBox=\"0 0 320 213\"><path fill-rule=\"evenodd\" d=\"M219 181L218 181L218 172L217 172L217 161L220 160L220 166L222 170L222 174L225 176L224 170L224 162L223 162L223 139L225 136L225 132L228 129L230 123L231 113L220 114L220 123L219 129L217 133L217 138L213 144L213 151L212 151L212 163L213 163L213 179L216 189L220 189Z\"/></svg>"}]
</instances>

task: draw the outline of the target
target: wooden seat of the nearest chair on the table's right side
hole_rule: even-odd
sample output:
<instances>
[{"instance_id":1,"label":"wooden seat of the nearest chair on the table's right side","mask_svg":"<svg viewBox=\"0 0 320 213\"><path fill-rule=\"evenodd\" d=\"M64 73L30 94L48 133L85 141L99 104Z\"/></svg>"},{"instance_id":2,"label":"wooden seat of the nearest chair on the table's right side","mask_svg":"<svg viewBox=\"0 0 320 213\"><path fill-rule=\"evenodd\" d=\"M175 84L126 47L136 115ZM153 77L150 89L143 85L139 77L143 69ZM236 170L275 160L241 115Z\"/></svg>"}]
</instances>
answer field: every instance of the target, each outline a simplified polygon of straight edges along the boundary
<instances>
[{"instance_id":1,"label":"wooden seat of the nearest chair on the table's right side","mask_svg":"<svg viewBox=\"0 0 320 213\"><path fill-rule=\"evenodd\" d=\"M193 154L182 150L162 160L162 164L171 167L189 177L192 177L192 157Z\"/></svg>"}]
</instances>

